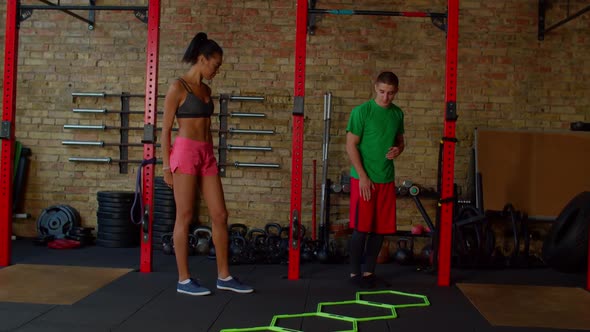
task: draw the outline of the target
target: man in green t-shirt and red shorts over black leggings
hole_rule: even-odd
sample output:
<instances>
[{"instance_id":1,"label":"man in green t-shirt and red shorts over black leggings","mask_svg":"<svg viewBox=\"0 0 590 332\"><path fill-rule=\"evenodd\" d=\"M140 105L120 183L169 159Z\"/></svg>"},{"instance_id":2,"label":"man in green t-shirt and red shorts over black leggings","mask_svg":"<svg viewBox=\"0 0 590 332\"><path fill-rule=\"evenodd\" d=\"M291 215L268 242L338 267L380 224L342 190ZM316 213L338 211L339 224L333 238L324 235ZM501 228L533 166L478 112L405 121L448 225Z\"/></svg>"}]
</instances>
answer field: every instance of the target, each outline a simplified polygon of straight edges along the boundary
<instances>
[{"instance_id":1,"label":"man in green t-shirt and red shorts over black leggings","mask_svg":"<svg viewBox=\"0 0 590 332\"><path fill-rule=\"evenodd\" d=\"M375 99L355 107L346 127L346 153L352 164L350 280L364 287L375 286L383 236L396 231L393 160L405 147L404 113L392 103L398 86L394 73L379 74Z\"/></svg>"}]
</instances>

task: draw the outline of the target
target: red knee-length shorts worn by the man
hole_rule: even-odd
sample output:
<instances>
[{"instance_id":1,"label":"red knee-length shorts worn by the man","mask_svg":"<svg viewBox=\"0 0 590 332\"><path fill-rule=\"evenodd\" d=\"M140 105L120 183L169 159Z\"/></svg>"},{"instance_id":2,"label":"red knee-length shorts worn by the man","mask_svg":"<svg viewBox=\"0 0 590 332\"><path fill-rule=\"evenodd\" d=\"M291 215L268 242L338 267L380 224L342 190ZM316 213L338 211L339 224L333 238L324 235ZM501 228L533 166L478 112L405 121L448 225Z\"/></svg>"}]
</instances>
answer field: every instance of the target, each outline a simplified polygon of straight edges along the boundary
<instances>
[{"instance_id":1,"label":"red knee-length shorts worn by the man","mask_svg":"<svg viewBox=\"0 0 590 332\"><path fill-rule=\"evenodd\" d=\"M395 233L395 183L374 185L371 199L365 201L359 192L359 180L350 179L350 228L366 233Z\"/></svg>"}]
</instances>

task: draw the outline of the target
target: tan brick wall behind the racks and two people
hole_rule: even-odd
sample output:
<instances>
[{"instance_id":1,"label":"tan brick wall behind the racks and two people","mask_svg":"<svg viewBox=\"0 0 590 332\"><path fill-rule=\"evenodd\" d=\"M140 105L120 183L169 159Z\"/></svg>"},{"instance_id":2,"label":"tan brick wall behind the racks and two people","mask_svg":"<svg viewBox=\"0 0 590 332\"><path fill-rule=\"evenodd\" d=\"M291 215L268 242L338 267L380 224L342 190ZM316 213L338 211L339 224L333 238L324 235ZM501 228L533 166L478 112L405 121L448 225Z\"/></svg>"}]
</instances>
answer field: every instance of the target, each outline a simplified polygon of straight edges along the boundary
<instances>
[{"instance_id":1,"label":"tan brick wall behind the racks and two people","mask_svg":"<svg viewBox=\"0 0 590 332\"><path fill-rule=\"evenodd\" d=\"M566 15L565 1L554 2L547 12L548 25ZM570 2L572 12L584 6L584 1ZM433 12L446 8L441 0L388 3L370 0L353 7L349 0L318 1L318 8ZM572 121L590 121L590 18L583 15L538 41L536 1L463 0L460 4L456 178L466 187L474 128L556 129L567 128ZM3 22L5 10L2 5ZM229 126L276 133L232 135L228 143L272 146L273 151L230 151L228 161L278 163L281 168L228 168L222 181L230 222L288 223L294 26L295 1L162 1L160 94L186 70L180 59L190 39L205 31L225 52L221 72L211 83L214 95L266 98L262 103L232 103L234 111L262 112L267 117L230 118ZM0 42L4 50L4 30ZM119 174L117 164L68 161L71 156L118 158L117 147L62 144L63 140L116 143L118 130L64 130L63 125L120 125L118 114L72 112L76 107L118 110L118 97L72 98L71 94L143 93L145 45L146 25L130 12L98 12L94 30L54 11L35 11L22 22L16 136L33 155L25 204L16 212L30 213L32 218L15 221L15 233L34 236L37 216L54 204L72 205L81 212L83 224L93 226L97 191L133 190L136 165L129 166L128 174ZM303 222L311 220L314 159L321 178L324 93L332 92L334 105L328 176L338 181L349 168L344 152L348 114L372 97L371 82L382 70L393 70L400 77L396 103L406 113L407 149L397 161L398 181L409 179L434 187L444 109L444 33L428 19L322 16L317 17L307 47ZM2 57L2 67L3 61ZM131 109L144 109L141 98L132 99ZM141 115L130 119L131 126L142 126ZM133 132L130 141L139 142L140 136L141 131ZM131 159L141 159L141 152L141 147L129 148ZM334 195L332 220L347 218L346 204L346 196ZM429 205L432 210L434 202ZM402 225L420 222L410 202L402 200L399 206ZM204 206L199 214L203 222L208 221Z\"/></svg>"}]
</instances>

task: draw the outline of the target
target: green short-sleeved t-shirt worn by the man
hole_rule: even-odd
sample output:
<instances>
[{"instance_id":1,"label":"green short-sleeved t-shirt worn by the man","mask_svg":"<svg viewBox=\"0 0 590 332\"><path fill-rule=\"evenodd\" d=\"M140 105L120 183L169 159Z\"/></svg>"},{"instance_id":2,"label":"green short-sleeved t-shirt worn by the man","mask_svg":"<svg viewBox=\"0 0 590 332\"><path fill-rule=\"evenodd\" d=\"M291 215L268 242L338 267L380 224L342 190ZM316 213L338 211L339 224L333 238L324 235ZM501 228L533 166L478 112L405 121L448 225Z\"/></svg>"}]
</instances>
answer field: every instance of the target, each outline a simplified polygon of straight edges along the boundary
<instances>
[{"instance_id":1,"label":"green short-sleeved t-shirt worn by the man","mask_svg":"<svg viewBox=\"0 0 590 332\"><path fill-rule=\"evenodd\" d=\"M395 138L404 133L404 113L398 106L377 105L375 100L367 101L352 110L346 131L360 137L357 146L365 172L374 183L395 181L393 160L385 157ZM350 175L358 179L358 172L352 166Z\"/></svg>"}]
</instances>

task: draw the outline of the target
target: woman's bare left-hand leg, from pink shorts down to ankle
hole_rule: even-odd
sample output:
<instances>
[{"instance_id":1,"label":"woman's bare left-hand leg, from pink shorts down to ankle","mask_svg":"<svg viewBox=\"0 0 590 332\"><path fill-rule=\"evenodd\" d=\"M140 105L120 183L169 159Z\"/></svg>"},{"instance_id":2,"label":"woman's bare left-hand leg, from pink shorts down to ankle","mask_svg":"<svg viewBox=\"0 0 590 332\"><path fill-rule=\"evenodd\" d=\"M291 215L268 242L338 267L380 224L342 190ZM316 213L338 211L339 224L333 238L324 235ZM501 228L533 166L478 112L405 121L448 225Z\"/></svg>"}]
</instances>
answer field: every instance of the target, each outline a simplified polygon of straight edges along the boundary
<instances>
[{"instance_id":1,"label":"woman's bare left-hand leg, from pink shorts down to ankle","mask_svg":"<svg viewBox=\"0 0 590 332\"><path fill-rule=\"evenodd\" d=\"M174 201L176 202L176 221L174 224L174 253L178 268L178 281L190 278L188 268L188 231L193 220L194 204L197 195L197 177L174 173Z\"/></svg>"}]
</instances>

